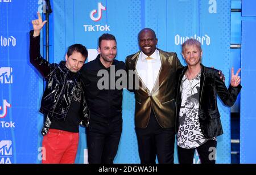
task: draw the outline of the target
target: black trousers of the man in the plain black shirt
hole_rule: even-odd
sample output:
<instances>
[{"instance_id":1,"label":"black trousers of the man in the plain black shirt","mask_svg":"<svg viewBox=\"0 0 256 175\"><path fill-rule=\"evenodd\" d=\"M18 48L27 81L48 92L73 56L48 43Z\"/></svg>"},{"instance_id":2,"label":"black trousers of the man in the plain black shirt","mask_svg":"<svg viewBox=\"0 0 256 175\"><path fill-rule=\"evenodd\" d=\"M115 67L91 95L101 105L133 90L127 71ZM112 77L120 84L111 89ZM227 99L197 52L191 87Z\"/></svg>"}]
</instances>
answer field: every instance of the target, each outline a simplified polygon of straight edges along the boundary
<instances>
[{"instance_id":1,"label":"black trousers of the man in the plain black shirt","mask_svg":"<svg viewBox=\"0 0 256 175\"><path fill-rule=\"evenodd\" d=\"M122 119L116 122L90 122L86 128L89 164L113 164L122 133Z\"/></svg>"}]
</instances>

